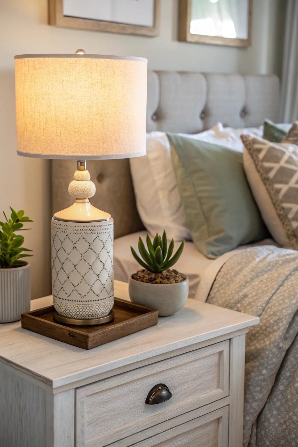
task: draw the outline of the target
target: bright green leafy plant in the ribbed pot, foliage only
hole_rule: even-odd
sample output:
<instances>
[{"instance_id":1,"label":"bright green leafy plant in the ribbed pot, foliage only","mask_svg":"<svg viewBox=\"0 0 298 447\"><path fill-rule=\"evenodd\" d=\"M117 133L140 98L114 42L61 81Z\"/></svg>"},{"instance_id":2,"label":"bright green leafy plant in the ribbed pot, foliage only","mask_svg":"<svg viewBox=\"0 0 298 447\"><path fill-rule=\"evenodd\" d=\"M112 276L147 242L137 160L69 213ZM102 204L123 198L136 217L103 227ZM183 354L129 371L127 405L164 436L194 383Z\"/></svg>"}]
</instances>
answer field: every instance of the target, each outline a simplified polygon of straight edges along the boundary
<instances>
[{"instance_id":1,"label":"bright green leafy plant in the ribbed pot, foliage only","mask_svg":"<svg viewBox=\"0 0 298 447\"><path fill-rule=\"evenodd\" d=\"M24 236L15 234L16 231L30 230L30 228L23 228L22 222L33 222L29 217L24 216L24 211L14 211L12 207L10 219L7 219L4 211L6 222L0 221L0 268L10 269L17 267L21 263L18 262L22 257L32 256L31 254L23 253L32 250L21 247L24 243Z\"/></svg>"}]
</instances>

